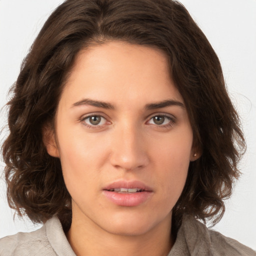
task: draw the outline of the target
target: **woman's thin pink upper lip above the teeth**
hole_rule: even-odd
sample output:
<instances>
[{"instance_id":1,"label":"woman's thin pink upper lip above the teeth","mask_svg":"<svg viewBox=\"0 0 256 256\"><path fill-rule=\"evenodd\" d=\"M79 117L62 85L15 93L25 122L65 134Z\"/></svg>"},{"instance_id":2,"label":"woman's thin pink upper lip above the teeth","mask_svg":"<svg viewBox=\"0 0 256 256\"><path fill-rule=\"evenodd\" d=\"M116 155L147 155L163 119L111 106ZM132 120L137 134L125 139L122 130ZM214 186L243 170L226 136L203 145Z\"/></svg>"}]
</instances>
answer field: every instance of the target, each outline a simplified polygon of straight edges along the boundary
<instances>
[{"instance_id":1,"label":"woman's thin pink upper lip above the teeth","mask_svg":"<svg viewBox=\"0 0 256 256\"><path fill-rule=\"evenodd\" d=\"M109 190L111 188L139 188L145 191L152 191L153 189L139 180L116 180L106 185L103 190Z\"/></svg>"}]
</instances>

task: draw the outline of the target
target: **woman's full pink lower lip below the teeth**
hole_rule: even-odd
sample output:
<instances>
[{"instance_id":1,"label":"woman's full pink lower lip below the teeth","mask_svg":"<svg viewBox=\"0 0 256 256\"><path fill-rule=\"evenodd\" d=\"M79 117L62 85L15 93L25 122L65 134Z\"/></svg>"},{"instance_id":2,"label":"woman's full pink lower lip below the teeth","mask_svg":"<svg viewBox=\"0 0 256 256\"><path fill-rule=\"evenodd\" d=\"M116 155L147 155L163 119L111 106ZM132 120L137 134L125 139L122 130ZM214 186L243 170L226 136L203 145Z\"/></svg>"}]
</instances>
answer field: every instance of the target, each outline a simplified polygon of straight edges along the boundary
<instances>
[{"instance_id":1,"label":"woman's full pink lower lip below the teeth","mask_svg":"<svg viewBox=\"0 0 256 256\"><path fill-rule=\"evenodd\" d=\"M114 204L121 206L137 206L145 202L152 195L152 191L118 193L115 191L103 190L103 194Z\"/></svg>"}]
</instances>

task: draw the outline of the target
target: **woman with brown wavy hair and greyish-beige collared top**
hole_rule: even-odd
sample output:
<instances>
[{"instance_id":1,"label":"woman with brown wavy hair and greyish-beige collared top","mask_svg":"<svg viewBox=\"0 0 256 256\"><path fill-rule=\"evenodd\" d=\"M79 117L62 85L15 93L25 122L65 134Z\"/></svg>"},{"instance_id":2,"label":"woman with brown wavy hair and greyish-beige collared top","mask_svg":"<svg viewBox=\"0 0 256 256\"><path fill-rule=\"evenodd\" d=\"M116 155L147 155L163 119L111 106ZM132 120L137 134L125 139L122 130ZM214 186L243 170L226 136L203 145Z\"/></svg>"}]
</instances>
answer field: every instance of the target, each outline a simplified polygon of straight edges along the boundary
<instances>
[{"instance_id":1,"label":"woman with brown wavy hair and greyish-beige collared top","mask_svg":"<svg viewBox=\"0 0 256 256\"><path fill-rule=\"evenodd\" d=\"M8 201L45 224L1 239L1 254L255 254L196 220L221 218L244 139L178 2L65 1L8 105Z\"/></svg>"}]
</instances>

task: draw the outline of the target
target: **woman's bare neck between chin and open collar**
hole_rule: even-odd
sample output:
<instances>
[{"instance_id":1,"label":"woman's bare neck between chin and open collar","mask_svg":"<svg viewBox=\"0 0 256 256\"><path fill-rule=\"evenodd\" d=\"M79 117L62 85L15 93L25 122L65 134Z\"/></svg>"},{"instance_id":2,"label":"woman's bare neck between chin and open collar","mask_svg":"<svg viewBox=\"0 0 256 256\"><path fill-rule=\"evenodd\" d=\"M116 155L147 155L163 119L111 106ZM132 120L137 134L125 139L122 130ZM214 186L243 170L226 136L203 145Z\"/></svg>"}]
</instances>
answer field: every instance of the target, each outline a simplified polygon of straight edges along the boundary
<instances>
[{"instance_id":1,"label":"woman's bare neck between chin and open collar","mask_svg":"<svg viewBox=\"0 0 256 256\"><path fill-rule=\"evenodd\" d=\"M77 256L166 256L174 243L170 219L168 216L145 233L127 235L110 233L86 217L73 216L66 236Z\"/></svg>"}]
</instances>

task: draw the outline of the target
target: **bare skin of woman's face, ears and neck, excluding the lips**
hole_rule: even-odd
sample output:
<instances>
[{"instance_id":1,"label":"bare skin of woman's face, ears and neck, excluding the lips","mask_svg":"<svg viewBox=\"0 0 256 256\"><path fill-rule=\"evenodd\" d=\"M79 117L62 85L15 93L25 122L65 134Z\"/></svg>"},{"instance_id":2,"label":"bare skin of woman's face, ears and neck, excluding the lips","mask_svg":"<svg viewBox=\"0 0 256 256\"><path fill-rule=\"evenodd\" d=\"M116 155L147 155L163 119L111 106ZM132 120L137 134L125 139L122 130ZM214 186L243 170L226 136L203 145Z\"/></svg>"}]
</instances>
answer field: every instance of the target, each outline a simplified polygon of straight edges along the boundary
<instances>
[{"instance_id":1,"label":"bare skin of woman's face, ears and neck, excluding the lips","mask_svg":"<svg viewBox=\"0 0 256 256\"><path fill-rule=\"evenodd\" d=\"M167 63L159 49L122 41L84 49L76 58L54 134L44 141L60 158L72 197L66 236L77 255L167 255L173 245L172 208L196 156ZM91 105L88 98L111 107ZM148 108L165 100L178 103ZM101 120L92 125L88 116ZM152 193L137 206L116 205L102 193L116 180L139 180Z\"/></svg>"}]
</instances>

